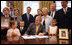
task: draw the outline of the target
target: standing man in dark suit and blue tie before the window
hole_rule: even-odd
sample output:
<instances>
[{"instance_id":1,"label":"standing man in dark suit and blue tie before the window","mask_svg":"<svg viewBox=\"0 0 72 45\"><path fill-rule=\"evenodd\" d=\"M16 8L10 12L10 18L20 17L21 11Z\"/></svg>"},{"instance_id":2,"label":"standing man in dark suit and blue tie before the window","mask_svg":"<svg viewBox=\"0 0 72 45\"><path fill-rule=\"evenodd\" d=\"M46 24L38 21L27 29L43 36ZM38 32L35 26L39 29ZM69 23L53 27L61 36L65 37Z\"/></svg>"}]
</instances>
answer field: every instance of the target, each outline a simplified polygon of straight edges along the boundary
<instances>
[{"instance_id":1,"label":"standing man in dark suit and blue tie before the window","mask_svg":"<svg viewBox=\"0 0 72 45\"><path fill-rule=\"evenodd\" d=\"M30 25L30 23L33 22L33 16L30 14L30 11L31 11L31 7L27 7L27 13L22 15L22 20L25 22L26 30Z\"/></svg>"}]
</instances>

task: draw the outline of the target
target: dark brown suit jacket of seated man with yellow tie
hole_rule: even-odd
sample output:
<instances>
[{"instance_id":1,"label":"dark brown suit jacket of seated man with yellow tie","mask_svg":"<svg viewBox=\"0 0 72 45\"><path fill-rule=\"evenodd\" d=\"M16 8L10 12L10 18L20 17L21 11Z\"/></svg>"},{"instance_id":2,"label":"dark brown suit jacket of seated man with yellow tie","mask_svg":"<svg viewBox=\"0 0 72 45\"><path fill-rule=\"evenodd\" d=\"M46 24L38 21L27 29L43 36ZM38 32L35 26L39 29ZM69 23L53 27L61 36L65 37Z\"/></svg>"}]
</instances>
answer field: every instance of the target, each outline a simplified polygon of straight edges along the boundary
<instances>
[{"instance_id":1,"label":"dark brown suit jacket of seated man with yellow tie","mask_svg":"<svg viewBox=\"0 0 72 45\"><path fill-rule=\"evenodd\" d=\"M40 24L40 26L38 28L37 35L39 33L44 33L44 32L45 32L44 27ZM36 33L36 24L35 23L31 23L30 26L28 27L27 31L25 32L25 34L35 35L35 33Z\"/></svg>"}]
</instances>

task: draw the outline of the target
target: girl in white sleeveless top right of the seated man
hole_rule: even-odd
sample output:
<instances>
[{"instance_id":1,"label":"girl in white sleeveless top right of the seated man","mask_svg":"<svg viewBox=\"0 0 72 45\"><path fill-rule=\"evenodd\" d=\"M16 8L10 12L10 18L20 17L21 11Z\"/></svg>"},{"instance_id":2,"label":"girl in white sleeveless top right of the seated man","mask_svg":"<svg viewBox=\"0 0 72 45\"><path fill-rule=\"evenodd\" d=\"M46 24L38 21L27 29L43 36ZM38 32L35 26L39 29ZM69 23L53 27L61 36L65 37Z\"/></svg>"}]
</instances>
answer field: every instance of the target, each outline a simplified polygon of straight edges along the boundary
<instances>
[{"instance_id":1,"label":"girl in white sleeveless top right of the seated man","mask_svg":"<svg viewBox=\"0 0 72 45\"><path fill-rule=\"evenodd\" d=\"M53 19L51 26L49 26L48 28L48 34L50 36L57 35L58 27L56 26L56 24L57 24L56 19Z\"/></svg>"}]
</instances>

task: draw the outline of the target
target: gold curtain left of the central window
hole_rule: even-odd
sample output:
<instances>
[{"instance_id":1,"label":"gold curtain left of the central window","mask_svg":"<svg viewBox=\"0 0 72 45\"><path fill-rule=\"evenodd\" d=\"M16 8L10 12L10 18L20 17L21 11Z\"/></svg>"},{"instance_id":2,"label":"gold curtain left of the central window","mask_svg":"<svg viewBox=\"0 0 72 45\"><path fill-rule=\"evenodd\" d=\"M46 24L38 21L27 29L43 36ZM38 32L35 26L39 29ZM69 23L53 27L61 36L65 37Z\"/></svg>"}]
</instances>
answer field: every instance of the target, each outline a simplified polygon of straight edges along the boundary
<instances>
[{"instance_id":1,"label":"gold curtain left of the central window","mask_svg":"<svg viewBox=\"0 0 72 45\"><path fill-rule=\"evenodd\" d=\"M20 15L23 14L23 1L7 1L7 6L9 6L9 2L12 2L15 8L20 9Z\"/></svg>"}]
</instances>

